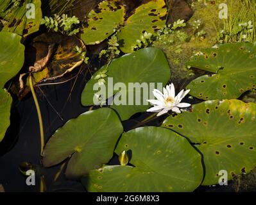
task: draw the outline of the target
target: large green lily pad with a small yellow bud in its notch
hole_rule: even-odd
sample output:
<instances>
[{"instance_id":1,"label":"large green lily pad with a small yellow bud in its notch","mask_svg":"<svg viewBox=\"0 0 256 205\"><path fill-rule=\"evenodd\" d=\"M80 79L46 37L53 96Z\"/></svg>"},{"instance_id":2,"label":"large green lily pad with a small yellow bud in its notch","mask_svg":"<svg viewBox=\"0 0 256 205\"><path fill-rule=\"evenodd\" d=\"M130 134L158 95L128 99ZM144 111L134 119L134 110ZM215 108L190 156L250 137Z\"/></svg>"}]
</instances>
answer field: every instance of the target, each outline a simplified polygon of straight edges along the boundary
<instances>
[{"instance_id":1,"label":"large green lily pad with a small yellow bud in its notch","mask_svg":"<svg viewBox=\"0 0 256 205\"><path fill-rule=\"evenodd\" d=\"M82 180L89 192L192 192L203 179L201 155L162 127L124 133L115 152L132 151L134 166L105 166Z\"/></svg>"}]
</instances>

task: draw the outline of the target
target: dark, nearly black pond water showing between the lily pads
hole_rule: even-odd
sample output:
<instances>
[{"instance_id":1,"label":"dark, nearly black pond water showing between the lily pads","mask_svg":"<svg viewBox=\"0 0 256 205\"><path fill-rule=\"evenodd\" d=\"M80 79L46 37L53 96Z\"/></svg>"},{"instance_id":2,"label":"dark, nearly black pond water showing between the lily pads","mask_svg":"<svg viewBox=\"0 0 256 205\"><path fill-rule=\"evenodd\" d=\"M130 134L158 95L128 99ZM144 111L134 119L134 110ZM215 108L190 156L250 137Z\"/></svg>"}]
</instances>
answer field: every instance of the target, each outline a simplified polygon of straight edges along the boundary
<instances>
[{"instance_id":1,"label":"dark, nearly black pond water showing between the lily pads","mask_svg":"<svg viewBox=\"0 0 256 205\"><path fill-rule=\"evenodd\" d=\"M73 75L74 76L74 75ZM74 76L75 77L75 76ZM40 86L42 92L37 88L38 101L43 113L44 131L46 141L61 127L67 120L76 118L89 108L81 106L80 96L86 83L82 72L74 85L74 79L60 85ZM72 78L72 77L69 77ZM65 79L63 79L65 81ZM74 85L74 88L73 88ZM73 92L70 92L73 88ZM54 109L53 109L54 108ZM131 120L124 121L124 130L128 131L138 126L138 122L149 116L149 113L136 114ZM28 95L22 101L13 103L12 127L8 129L7 137L9 143L4 140L0 143L0 150L7 151L0 153L0 183L3 184L6 192L38 192L40 186L37 177L35 186L26 185L26 177L20 172L19 165L22 162L29 162L37 168L37 176L43 174L46 180L48 192L84 192L85 189L78 181L65 179L64 172L60 174L58 180L54 181L56 173L60 170L60 165L51 168L40 167L40 133L38 126L37 111L33 97ZM151 120L144 126L160 126L163 118ZM9 137L8 137L9 136ZM8 147L6 144L10 145ZM4 147L3 147L4 145ZM3 148L2 148L3 147ZM4 149L5 148L5 149ZM109 162L110 165L119 164L117 156ZM230 192L229 186L200 186L194 192Z\"/></svg>"}]
</instances>

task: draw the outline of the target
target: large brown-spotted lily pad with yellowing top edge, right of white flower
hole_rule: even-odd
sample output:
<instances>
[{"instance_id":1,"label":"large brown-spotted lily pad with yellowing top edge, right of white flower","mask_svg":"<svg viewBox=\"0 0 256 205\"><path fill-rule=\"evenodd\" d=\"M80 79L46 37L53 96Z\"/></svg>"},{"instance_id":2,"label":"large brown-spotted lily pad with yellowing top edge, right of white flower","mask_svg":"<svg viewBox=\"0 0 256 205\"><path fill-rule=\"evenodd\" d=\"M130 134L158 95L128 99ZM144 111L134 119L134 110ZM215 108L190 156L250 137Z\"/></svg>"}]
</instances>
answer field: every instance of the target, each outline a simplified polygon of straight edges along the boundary
<instances>
[{"instance_id":1,"label":"large brown-spotted lily pad with yellowing top edge, right of white flower","mask_svg":"<svg viewBox=\"0 0 256 205\"><path fill-rule=\"evenodd\" d=\"M203 154L203 185L218 184L219 171L250 172L256 166L256 104L238 100L206 101L169 116L162 126L176 131Z\"/></svg>"}]
</instances>

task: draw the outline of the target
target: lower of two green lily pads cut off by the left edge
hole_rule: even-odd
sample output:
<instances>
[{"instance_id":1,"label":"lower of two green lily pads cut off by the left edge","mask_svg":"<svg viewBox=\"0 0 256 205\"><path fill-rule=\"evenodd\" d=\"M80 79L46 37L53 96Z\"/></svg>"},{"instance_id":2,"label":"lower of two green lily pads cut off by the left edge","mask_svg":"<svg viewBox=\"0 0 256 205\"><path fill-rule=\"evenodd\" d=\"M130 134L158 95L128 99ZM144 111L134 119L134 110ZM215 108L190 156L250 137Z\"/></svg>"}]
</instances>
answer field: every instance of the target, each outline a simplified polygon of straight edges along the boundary
<instances>
[{"instance_id":1,"label":"lower of two green lily pads cut off by the left edge","mask_svg":"<svg viewBox=\"0 0 256 205\"><path fill-rule=\"evenodd\" d=\"M10 126L10 111L12 97L6 90L0 89L0 142L3 140L6 129Z\"/></svg>"}]
</instances>

